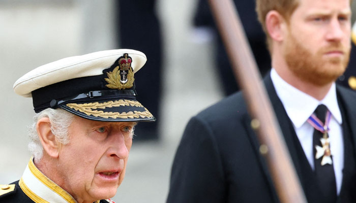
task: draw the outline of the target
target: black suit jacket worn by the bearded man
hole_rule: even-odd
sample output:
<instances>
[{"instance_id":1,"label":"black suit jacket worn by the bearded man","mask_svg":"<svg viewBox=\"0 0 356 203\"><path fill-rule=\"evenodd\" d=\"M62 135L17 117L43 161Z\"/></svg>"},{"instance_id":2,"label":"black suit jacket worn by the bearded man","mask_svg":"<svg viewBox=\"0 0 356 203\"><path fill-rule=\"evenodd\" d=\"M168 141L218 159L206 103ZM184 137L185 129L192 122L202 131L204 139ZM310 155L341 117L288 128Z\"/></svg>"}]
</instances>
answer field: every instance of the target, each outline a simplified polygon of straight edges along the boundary
<instances>
[{"instance_id":1,"label":"black suit jacket worn by the bearded man","mask_svg":"<svg viewBox=\"0 0 356 203\"><path fill-rule=\"evenodd\" d=\"M320 202L312 168L270 74L264 79L308 202ZM356 202L356 93L337 85L342 114L344 168L337 202ZM168 203L279 202L241 92L194 116L172 165Z\"/></svg>"}]
</instances>

